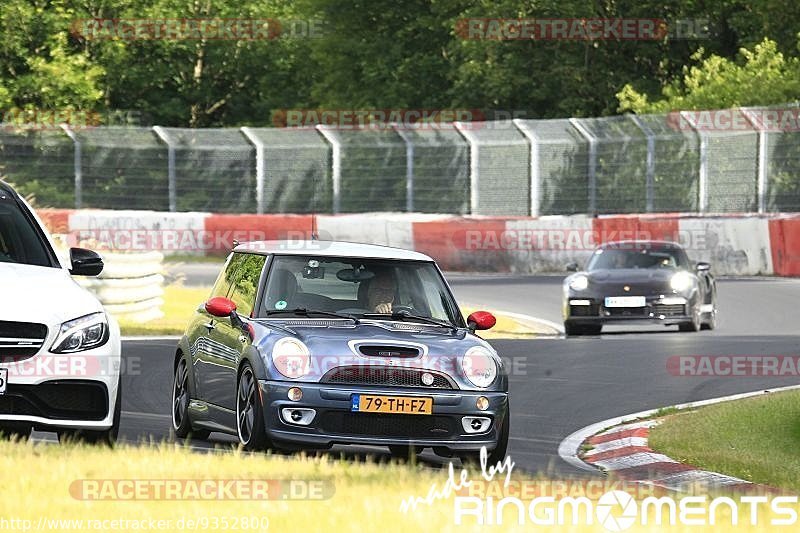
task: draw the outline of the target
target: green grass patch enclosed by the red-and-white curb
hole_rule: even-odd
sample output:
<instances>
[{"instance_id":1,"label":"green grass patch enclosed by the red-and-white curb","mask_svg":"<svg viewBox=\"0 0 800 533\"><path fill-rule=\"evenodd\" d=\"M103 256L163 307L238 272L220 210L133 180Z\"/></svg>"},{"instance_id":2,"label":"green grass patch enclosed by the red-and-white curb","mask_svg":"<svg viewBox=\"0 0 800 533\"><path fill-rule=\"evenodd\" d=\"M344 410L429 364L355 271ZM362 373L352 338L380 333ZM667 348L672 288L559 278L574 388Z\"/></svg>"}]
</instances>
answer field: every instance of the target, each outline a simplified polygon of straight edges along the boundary
<instances>
[{"instance_id":1,"label":"green grass patch enclosed by the red-and-white curb","mask_svg":"<svg viewBox=\"0 0 800 533\"><path fill-rule=\"evenodd\" d=\"M800 492L800 391L669 416L650 431L649 443L698 468Z\"/></svg>"}]
</instances>

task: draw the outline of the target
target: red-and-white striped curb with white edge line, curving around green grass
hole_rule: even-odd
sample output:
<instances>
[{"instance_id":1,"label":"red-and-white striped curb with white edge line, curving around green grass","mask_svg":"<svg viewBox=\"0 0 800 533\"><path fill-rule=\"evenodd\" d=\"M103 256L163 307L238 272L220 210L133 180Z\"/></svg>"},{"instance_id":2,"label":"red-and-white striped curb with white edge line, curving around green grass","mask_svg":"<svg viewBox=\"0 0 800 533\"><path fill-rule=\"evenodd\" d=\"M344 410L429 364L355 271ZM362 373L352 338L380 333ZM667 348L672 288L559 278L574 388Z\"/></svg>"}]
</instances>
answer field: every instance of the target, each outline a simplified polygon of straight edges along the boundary
<instances>
[{"instance_id":1,"label":"red-and-white striped curb with white edge line, curving around green grass","mask_svg":"<svg viewBox=\"0 0 800 533\"><path fill-rule=\"evenodd\" d=\"M678 410L703 407L773 392L800 389L800 385L759 390L674 406ZM603 471L625 481L652 485L676 492L693 489L772 492L775 489L743 479L702 470L680 463L653 451L648 444L650 429L659 419L642 420L658 414L658 409L597 422L581 428L558 448L561 458L576 468ZM609 429L610 428L610 429ZM587 445L591 447L584 450Z\"/></svg>"}]
</instances>

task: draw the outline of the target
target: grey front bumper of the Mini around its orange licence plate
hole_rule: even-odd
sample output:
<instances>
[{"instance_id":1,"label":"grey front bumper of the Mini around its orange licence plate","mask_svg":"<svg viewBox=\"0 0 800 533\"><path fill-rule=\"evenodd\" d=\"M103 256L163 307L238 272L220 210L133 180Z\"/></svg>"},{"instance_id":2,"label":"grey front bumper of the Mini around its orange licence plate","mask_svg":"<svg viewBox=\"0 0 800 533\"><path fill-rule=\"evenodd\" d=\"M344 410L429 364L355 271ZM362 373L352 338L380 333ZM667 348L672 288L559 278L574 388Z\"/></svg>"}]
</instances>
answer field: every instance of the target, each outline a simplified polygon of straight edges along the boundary
<instances>
[{"instance_id":1,"label":"grey front bumper of the Mini around its orange licence plate","mask_svg":"<svg viewBox=\"0 0 800 533\"><path fill-rule=\"evenodd\" d=\"M454 452L494 449L499 429L508 412L508 393L463 390L430 390L324 383L260 381L264 417L269 438L297 447L329 447L334 444L411 445L445 448ZM303 392L299 401L288 398L291 387ZM377 414L351 411L353 394L433 398L430 415ZM486 410L476 402L489 400ZM287 421L284 409L312 409L308 425ZM480 433L468 433L464 417L488 418L490 425Z\"/></svg>"}]
</instances>

